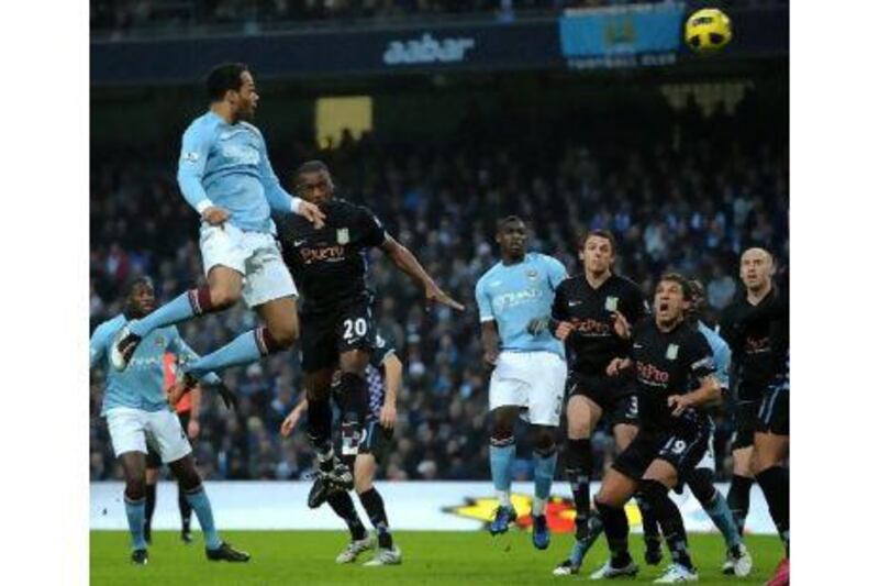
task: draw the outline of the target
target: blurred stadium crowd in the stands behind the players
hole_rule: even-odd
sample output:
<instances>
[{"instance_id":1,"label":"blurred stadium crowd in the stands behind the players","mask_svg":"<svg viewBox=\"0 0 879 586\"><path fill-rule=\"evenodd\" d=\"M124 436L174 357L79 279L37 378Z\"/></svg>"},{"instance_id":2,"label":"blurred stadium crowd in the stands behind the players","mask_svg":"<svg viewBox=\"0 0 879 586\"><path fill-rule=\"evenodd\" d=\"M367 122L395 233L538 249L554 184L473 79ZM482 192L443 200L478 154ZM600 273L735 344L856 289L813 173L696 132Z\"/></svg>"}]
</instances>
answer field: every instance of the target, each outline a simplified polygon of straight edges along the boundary
<instances>
[{"instance_id":1,"label":"blurred stadium crowd in the stands behind the players","mask_svg":"<svg viewBox=\"0 0 879 586\"><path fill-rule=\"evenodd\" d=\"M619 241L617 272L645 291L667 268L700 276L710 312L737 294L737 254L754 242L783 261L788 246L788 153L785 137L757 140L748 121L716 113L682 113L668 132L644 142L636 124L614 122L615 141L577 135L556 147L544 139L508 140L485 132L491 120L468 120L442 146L388 143L365 134L332 151L269 143L282 177L298 162L320 156L340 195L367 204L409 246L464 314L425 312L420 291L374 251L371 284L381 330L405 365L396 447L379 478L487 479L487 379L481 365L474 286L497 262L494 220L518 213L531 229L530 246L579 272L578 236L610 228ZM754 123L756 124L756 123ZM727 132L745 140L727 140ZM552 129L549 130L552 132ZM508 130L512 132L512 130ZM521 135L521 133L520 133ZM122 286L137 274L156 280L159 302L203 281L197 217L176 187L174 158L151 152L92 151L90 320L116 314ZM290 186L288 186L290 187ZM255 317L243 306L189 322L183 338L196 351L218 347ZM275 355L225 375L242 396L227 411L216 397L203 401L196 456L211 479L288 479L312 469L304 431L279 436L279 425L302 390L294 353ZM91 478L121 477L107 427L99 418L102 376L91 383ZM731 468L732 425L719 417L719 478ZM302 423L300 423L302 425ZM564 425L564 422L563 422ZM530 450L519 445L516 477L531 474ZM593 442L610 463L612 439Z\"/></svg>"}]
</instances>

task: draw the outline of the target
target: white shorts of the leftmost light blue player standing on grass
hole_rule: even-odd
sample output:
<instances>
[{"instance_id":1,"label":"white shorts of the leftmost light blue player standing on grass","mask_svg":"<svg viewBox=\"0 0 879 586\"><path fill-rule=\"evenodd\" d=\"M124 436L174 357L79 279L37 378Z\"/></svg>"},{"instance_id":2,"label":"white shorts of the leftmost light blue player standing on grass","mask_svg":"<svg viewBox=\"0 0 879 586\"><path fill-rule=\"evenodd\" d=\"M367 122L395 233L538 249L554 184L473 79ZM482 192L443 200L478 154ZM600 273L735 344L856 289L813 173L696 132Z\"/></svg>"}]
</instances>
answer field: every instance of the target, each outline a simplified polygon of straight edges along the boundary
<instances>
[{"instance_id":1,"label":"white shorts of the leftmost light blue player standing on grass","mask_svg":"<svg viewBox=\"0 0 879 586\"><path fill-rule=\"evenodd\" d=\"M147 442L165 464L192 452L180 420L168 409L144 411L133 407L112 407L107 410L107 427L116 457L126 452L145 454Z\"/></svg>"}]
</instances>

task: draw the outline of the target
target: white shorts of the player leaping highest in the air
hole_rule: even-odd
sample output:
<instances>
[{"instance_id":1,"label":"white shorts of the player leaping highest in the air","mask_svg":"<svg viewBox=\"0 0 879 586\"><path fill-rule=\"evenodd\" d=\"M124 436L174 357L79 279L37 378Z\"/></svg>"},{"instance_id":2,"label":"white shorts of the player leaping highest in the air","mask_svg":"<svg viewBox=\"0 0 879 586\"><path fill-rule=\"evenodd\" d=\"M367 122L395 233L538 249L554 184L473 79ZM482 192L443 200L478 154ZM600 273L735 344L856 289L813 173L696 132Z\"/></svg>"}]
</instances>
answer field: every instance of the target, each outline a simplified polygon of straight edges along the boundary
<instances>
[{"instance_id":1,"label":"white shorts of the player leaping highest in the air","mask_svg":"<svg viewBox=\"0 0 879 586\"><path fill-rule=\"evenodd\" d=\"M244 275L242 297L247 307L298 294L278 242L268 232L244 232L229 222L202 222L199 246L205 276L218 265Z\"/></svg>"}]
</instances>

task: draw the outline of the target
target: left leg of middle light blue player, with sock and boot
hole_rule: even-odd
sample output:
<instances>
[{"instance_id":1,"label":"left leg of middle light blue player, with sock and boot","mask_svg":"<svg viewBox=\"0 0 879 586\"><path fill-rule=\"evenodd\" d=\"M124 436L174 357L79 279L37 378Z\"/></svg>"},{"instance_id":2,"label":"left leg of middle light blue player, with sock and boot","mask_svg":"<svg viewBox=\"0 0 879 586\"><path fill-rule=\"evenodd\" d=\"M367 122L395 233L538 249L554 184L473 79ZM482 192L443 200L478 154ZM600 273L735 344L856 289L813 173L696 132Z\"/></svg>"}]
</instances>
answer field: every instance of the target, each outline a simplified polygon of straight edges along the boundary
<instances>
[{"instance_id":1,"label":"left leg of middle light blue player, with sock and boot","mask_svg":"<svg viewBox=\"0 0 879 586\"><path fill-rule=\"evenodd\" d=\"M505 533L508 526L515 521L516 513L510 500L510 486L513 482L513 460L515 458L515 422L519 418L518 405L505 405L491 411L491 438L489 439L489 466L498 509L489 526L489 533Z\"/></svg>"}]
</instances>

